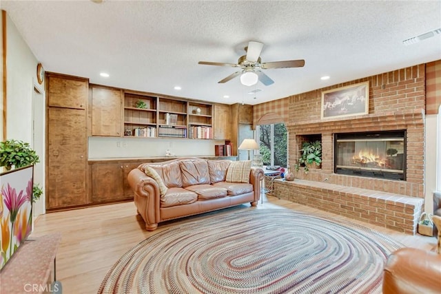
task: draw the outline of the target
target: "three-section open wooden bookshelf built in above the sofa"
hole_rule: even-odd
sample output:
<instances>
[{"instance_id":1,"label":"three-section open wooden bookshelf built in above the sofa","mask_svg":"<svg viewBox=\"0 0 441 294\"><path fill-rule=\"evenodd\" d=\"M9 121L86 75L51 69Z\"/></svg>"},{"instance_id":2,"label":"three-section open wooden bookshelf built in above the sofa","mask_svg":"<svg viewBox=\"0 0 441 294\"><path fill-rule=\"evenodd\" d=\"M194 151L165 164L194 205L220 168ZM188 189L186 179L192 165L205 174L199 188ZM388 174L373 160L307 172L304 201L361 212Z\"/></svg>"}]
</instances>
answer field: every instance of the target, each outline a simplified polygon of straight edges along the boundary
<instances>
[{"instance_id":1,"label":"three-section open wooden bookshelf built in above the sofa","mask_svg":"<svg viewBox=\"0 0 441 294\"><path fill-rule=\"evenodd\" d=\"M212 123L209 103L124 94L124 136L212 139Z\"/></svg>"}]
</instances>

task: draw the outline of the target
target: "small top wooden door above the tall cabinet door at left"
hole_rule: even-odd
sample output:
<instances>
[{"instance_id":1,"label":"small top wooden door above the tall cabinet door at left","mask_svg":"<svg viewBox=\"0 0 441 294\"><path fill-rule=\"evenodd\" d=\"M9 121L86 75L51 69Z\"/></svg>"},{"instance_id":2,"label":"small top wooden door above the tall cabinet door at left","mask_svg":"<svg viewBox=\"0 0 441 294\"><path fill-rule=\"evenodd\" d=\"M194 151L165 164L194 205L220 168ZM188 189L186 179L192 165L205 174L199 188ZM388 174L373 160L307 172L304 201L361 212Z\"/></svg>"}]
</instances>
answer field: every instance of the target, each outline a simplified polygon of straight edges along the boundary
<instances>
[{"instance_id":1,"label":"small top wooden door above the tall cabinet door at left","mask_svg":"<svg viewBox=\"0 0 441 294\"><path fill-rule=\"evenodd\" d=\"M48 75L48 106L85 109L88 98L88 80Z\"/></svg>"}]
</instances>

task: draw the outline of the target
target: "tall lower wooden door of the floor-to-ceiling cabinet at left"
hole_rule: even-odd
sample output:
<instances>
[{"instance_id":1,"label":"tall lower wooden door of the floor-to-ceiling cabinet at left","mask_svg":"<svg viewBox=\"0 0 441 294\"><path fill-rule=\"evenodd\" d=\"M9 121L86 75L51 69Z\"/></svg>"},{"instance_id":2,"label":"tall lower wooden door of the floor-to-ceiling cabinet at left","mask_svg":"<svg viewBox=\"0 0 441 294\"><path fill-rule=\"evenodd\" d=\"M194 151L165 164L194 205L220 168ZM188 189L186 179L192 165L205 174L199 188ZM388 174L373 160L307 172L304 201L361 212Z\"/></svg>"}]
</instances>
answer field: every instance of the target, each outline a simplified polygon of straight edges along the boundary
<instances>
[{"instance_id":1,"label":"tall lower wooden door of the floor-to-ceiling cabinet at left","mask_svg":"<svg viewBox=\"0 0 441 294\"><path fill-rule=\"evenodd\" d=\"M48 209L87 204L85 109L48 107Z\"/></svg>"}]
</instances>

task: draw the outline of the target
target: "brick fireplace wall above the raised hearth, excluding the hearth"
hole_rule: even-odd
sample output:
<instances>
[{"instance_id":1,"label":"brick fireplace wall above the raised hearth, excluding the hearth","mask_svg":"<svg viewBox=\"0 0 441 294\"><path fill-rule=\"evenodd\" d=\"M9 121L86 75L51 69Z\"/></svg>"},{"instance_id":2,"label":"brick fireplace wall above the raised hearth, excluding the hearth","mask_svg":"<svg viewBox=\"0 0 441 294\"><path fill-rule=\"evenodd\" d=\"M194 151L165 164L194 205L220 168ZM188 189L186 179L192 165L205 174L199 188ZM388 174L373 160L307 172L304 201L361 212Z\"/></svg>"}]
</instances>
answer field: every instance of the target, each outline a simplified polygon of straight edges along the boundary
<instances>
[{"instance_id":1,"label":"brick fireplace wall above the raised hearth, excluding the hearth","mask_svg":"<svg viewBox=\"0 0 441 294\"><path fill-rule=\"evenodd\" d=\"M299 157L300 143L310 134L321 135L322 166L296 178L327 181L348 187L424 197L425 65L361 78L311 92L289 96L289 165ZM320 119L322 91L369 81L369 114ZM407 130L407 180L382 180L334 174L334 134Z\"/></svg>"}]
</instances>

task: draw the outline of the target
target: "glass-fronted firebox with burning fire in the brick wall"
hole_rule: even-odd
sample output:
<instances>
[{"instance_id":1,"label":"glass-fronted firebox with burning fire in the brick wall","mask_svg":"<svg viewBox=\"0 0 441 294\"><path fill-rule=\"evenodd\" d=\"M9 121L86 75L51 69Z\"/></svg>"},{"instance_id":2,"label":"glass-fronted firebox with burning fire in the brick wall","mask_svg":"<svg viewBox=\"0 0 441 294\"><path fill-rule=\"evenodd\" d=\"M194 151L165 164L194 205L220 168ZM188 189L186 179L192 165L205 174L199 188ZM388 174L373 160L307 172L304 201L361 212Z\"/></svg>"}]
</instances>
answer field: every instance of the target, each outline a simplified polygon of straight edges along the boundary
<instances>
[{"instance_id":1,"label":"glass-fronted firebox with burning fire in the brick wall","mask_svg":"<svg viewBox=\"0 0 441 294\"><path fill-rule=\"evenodd\" d=\"M406 131L335 134L334 172L405 180L405 138Z\"/></svg>"}]
</instances>

